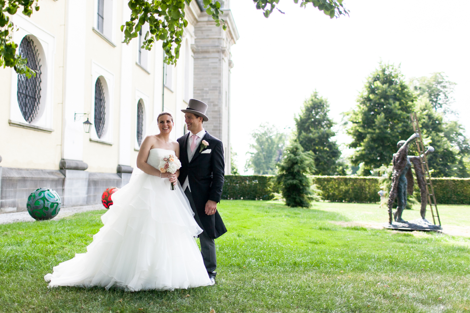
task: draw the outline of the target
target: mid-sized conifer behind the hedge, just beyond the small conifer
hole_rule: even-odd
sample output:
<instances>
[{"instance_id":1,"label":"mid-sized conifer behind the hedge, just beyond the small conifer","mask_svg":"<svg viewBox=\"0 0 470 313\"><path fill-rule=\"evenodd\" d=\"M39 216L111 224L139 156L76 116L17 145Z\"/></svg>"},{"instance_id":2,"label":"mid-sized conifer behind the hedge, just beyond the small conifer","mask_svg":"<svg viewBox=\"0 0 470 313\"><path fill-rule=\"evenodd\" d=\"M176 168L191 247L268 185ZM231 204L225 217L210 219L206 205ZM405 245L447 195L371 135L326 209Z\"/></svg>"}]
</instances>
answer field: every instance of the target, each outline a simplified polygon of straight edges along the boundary
<instances>
[{"instance_id":1,"label":"mid-sized conifer behind the hedge, just beyond the small conifer","mask_svg":"<svg viewBox=\"0 0 470 313\"><path fill-rule=\"evenodd\" d=\"M320 97L315 91L305 100L299 116L294 118L297 141L304 151L312 151L315 162L315 169L312 171L314 175L345 175L344 169L337 166L341 152L336 141L331 140L335 132L331 130L334 123L328 113L328 100Z\"/></svg>"}]
</instances>

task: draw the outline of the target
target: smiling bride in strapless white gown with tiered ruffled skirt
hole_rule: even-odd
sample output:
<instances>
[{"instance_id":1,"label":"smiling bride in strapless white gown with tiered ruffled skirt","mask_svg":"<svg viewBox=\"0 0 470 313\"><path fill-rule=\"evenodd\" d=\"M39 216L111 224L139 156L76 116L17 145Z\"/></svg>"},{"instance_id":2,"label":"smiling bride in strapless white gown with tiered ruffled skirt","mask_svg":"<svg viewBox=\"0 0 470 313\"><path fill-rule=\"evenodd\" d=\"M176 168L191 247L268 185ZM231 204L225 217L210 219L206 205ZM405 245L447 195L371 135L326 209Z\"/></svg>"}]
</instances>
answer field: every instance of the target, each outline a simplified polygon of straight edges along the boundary
<instances>
[{"instance_id":1,"label":"smiling bride in strapless white gown with tiered ruffled skirt","mask_svg":"<svg viewBox=\"0 0 470 313\"><path fill-rule=\"evenodd\" d=\"M156 169L166 154L180 157L170 139L171 114L157 117L160 133L141 144L130 182L113 194L102 217L104 226L86 253L54 267L44 279L49 287L102 286L126 291L173 290L211 285L195 236L202 229L193 218L176 173ZM156 127L155 127L156 128ZM150 127L152 129L152 127ZM176 190L170 190L173 182Z\"/></svg>"}]
</instances>

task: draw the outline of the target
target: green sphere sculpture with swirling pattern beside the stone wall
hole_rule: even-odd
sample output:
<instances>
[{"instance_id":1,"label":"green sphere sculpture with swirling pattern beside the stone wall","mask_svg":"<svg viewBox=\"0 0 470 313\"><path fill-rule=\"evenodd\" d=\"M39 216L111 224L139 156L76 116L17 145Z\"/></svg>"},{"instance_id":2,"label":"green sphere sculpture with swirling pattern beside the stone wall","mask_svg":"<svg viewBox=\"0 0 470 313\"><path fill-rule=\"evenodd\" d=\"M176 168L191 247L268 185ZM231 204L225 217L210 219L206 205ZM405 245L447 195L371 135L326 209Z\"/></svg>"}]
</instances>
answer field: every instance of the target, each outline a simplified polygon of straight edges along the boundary
<instances>
[{"instance_id":1,"label":"green sphere sculpture with swirling pattern beside the stone wall","mask_svg":"<svg viewBox=\"0 0 470 313\"><path fill-rule=\"evenodd\" d=\"M26 207L33 219L53 219L60 211L60 196L53 189L38 188L28 197Z\"/></svg>"}]
</instances>

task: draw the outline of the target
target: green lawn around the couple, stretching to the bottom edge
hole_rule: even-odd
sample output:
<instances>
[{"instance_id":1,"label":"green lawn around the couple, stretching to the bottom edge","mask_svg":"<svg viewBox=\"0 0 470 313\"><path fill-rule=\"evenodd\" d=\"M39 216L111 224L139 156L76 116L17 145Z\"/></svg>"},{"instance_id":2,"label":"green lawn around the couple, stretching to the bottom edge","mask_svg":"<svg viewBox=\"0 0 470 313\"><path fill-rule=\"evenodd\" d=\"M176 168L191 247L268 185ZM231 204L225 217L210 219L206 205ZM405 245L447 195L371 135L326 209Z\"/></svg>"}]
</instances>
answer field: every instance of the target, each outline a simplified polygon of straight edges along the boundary
<instances>
[{"instance_id":1,"label":"green lawn around the couple, stretching to the bottom edge","mask_svg":"<svg viewBox=\"0 0 470 313\"><path fill-rule=\"evenodd\" d=\"M276 202L223 201L219 211L228 233L216 240L217 284L164 292L47 289L43 275L85 251L91 235L102 225L104 211L1 225L0 311L209 313L213 308L216 313L415 313L470 309L470 239L329 222L357 220L358 208L371 211L373 205L316 203L313 209L292 209Z\"/></svg>"}]
</instances>

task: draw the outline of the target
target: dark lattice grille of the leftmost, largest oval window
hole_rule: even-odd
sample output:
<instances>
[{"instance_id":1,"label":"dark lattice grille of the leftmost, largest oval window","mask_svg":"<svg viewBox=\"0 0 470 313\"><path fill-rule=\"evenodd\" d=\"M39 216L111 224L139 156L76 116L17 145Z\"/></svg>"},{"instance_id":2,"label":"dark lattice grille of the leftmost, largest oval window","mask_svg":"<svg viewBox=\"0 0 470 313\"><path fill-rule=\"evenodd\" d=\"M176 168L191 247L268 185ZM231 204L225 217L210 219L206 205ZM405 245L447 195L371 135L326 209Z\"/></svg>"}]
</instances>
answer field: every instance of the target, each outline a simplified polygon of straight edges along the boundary
<instances>
[{"instance_id":1,"label":"dark lattice grille of the leftmost, largest oval window","mask_svg":"<svg viewBox=\"0 0 470 313\"><path fill-rule=\"evenodd\" d=\"M28 66L31 70L37 70L36 77L27 78L26 75L18 75L18 105L24 119L31 123L38 115L39 101L41 100L41 65L39 62L39 51L34 45L34 41L29 37L21 40L19 54L22 58L27 58Z\"/></svg>"}]
</instances>

